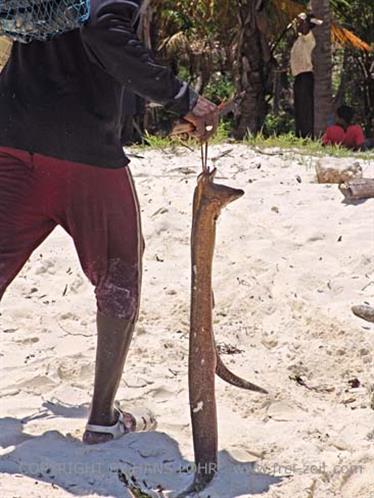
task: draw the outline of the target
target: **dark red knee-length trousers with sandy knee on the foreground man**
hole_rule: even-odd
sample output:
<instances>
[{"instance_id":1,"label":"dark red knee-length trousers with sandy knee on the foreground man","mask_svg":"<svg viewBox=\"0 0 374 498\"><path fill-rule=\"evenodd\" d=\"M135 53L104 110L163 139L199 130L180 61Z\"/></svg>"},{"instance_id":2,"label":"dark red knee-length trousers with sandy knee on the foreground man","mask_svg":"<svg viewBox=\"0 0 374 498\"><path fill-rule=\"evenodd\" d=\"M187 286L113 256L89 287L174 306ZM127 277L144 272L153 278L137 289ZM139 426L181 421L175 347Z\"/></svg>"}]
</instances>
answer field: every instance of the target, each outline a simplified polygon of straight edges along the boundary
<instances>
[{"instance_id":1,"label":"dark red knee-length trousers with sandy knee on the foreground man","mask_svg":"<svg viewBox=\"0 0 374 498\"><path fill-rule=\"evenodd\" d=\"M106 169L0 148L0 299L57 226L71 235L98 310L137 316L143 239L128 168Z\"/></svg>"}]
</instances>

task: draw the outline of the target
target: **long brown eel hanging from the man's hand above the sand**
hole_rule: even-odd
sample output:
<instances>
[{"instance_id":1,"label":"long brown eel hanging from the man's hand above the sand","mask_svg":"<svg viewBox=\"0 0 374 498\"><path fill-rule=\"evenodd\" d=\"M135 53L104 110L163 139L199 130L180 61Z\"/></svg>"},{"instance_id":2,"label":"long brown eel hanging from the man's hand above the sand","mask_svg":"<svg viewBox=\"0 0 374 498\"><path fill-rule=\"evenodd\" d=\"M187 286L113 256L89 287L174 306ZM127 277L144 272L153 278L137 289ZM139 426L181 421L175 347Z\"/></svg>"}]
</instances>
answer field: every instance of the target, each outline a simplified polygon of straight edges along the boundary
<instances>
[{"instance_id":1,"label":"long brown eel hanging from the man's hand above the sand","mask_svg":"<svg viewBox=\"0 0 374 498\"><path fill-rule=\"evenodd\" d=\"M216 170L198 177L193 201L191 234L191 317L189 347L189 395L195 451L195 479L180 496L201 491L217 471L217 411L215 374L243 389L266 394L223 364L216 348L212 327L212 263L216 220L221 210L241 197L243 190L214 183Z\"/></svg>"}]
</instances>

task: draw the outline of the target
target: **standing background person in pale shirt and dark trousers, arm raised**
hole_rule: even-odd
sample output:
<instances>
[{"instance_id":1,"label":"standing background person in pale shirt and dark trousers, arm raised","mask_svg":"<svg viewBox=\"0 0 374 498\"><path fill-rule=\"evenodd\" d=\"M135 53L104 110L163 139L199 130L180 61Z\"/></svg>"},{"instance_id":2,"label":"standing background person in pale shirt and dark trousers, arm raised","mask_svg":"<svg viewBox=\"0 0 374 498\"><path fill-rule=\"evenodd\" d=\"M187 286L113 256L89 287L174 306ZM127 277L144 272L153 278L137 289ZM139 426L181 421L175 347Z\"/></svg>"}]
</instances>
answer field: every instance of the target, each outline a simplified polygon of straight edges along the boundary
<instances>
[{"instance_id":1,"label":"standing background person in pale shirt and dark trousers, arm raised","mask_svg":"<svg viewBox=\"0 0 374 498\"><path fill-rule=\"evenodd\" d=\"M313 14L299 14L298 38L291 49L291 72L294 82L294 106L296 136L314 136L314 73L312 54L316 40L312 29L322 24Z\"/></svg>"}]
</instances>

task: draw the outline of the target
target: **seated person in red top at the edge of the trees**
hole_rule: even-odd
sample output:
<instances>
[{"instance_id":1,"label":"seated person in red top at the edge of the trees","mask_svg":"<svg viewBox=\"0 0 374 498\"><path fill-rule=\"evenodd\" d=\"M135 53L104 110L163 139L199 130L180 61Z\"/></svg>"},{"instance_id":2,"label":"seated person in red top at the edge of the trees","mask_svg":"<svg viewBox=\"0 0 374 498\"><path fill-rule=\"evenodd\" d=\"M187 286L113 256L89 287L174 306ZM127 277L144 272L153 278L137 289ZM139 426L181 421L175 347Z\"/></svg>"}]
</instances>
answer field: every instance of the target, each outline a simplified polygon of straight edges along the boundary
<instances>
[{"instance_id":1,"label":"seated person in red top at the edge of the trees","mask_svg":"<svg viewBox=\"0 0 374 498\"><path fill-rule=\"evenodd\" d=\"M336 123L329 126L322 138L324 145L343 145L358 150L364 147L365 135L360 125L352 125L354 111L347 105L336 111Z\"/></svg>"}]
</instances>

